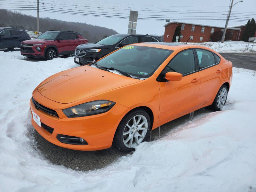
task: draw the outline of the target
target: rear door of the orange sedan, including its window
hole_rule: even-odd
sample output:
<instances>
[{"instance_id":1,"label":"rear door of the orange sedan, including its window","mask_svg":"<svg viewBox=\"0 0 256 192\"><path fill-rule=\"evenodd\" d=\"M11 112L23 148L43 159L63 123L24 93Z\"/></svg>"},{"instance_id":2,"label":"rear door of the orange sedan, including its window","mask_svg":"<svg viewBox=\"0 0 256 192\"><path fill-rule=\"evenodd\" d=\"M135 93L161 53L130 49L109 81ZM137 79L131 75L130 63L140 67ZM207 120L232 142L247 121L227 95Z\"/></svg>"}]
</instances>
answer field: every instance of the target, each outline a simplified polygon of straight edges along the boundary
<instances>
[{"instance_id":1,"label":"rear door of the orange sedan, including its window","mask_svg":"<svg viewBox=\"0 0 256 192\"><path fill-rule=\"evenodd\" d=\"M204 49L195 49L198 60L201 86L197 98L197 106L209 103L216 95L221 82L220 60L215 61L214 54Z\"/></svg>"}]
</instances>

